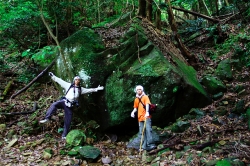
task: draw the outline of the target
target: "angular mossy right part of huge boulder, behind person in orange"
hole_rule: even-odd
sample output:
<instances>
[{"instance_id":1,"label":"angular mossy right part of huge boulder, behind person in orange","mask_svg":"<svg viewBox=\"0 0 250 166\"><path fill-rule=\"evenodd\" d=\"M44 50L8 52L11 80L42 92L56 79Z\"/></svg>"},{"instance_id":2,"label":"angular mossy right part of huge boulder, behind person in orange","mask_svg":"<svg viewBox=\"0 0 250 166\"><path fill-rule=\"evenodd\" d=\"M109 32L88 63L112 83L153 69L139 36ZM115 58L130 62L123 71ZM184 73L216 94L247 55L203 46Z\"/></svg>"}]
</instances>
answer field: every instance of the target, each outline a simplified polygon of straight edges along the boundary
<instances>
[{"instance_id":1,"label":"angular mossy right part of huge boulder, behind person in orange","mask_svg":"<svg viewBox=\"0 0 250 166\"><path fill-rule=\"evenodd\" d=\"M157 113L152 118L156 125L164 126L193 106L209 102L205 90L196 79L196 71L184 62L176 58L177 66L172 65L155 47L145 56L142 55L140 60L131 62L128 70L114 71L107 79L105 98L111 126L135 124L129 115L135 99L134 88L139 84L144 86L151 102L158 104ZM121 66L128 64L124 63ZM196 100L191 97L193 95L197 96Z\"/></svg>"}]
</instances>

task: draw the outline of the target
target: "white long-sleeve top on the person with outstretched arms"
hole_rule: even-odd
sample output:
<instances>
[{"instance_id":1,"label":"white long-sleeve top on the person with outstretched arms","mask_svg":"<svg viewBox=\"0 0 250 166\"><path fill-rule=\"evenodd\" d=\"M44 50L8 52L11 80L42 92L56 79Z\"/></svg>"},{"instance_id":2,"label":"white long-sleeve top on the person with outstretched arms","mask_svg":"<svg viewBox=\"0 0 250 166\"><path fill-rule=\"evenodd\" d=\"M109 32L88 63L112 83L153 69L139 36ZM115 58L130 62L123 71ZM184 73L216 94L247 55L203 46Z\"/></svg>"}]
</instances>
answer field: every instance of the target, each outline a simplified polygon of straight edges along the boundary
<instances>
[{"instance_id":1,"label":"white long-sleeve top on the person with outstretched arms","mask_svg":"<svg viewBox=\"0 0 250 166\"><path fill-rule=\"evenodd\" d=\"M71 83L69 82L66 82L64 80L62 80L61 78L53 75L52 77L52 80L54 80L55 82L57 82L63 89L64 89L64 93L67 92L67 90L69 89ZM86 89L86 88L83 88L81 87L81 94L85 94L85 93L91 93L91 92L97 92L98 89L97 88L89 88L89 89ZM72 102L74 100L78 100L80 94L79 94L79 90L78 88L76 87L75 88L75 93L74 93L74 87L70 88L70 90L68 91L68 93L66 94L66 98Z\"/></svg>"}]
</instances>

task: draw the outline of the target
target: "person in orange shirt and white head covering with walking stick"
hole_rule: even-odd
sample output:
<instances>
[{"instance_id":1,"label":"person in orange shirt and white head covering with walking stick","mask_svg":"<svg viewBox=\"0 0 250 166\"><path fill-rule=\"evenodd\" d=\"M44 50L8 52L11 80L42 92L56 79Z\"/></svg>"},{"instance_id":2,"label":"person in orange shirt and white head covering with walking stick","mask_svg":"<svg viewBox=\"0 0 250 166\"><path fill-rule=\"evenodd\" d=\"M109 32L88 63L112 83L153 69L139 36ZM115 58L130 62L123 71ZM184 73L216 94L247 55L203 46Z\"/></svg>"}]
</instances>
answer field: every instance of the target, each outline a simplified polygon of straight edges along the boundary
<instances>
[{"instance_id":1,"label":"person in orange shirt and white head covering with walking stick","mask_svg":"<svg viewBox=\"0 0 250 166\"><path fill-rule=\"evenodd\" d=\"M131 117L134 118L135 113L138 111L138 122L139 122L138 137L140 140L142 137L144 123L146 122L145 124L146 128L144 130L144 135L143 135L142 149L149 151L156 148L152 138L151 115L149 114L149 104L151 103L149 97L144 93L144 89L141 85L136 86L135 91L136 91L136 98L134 100L134 110L131 112ZM144 108L144 106L146 108Z\"/></svg>"}]
</instances>

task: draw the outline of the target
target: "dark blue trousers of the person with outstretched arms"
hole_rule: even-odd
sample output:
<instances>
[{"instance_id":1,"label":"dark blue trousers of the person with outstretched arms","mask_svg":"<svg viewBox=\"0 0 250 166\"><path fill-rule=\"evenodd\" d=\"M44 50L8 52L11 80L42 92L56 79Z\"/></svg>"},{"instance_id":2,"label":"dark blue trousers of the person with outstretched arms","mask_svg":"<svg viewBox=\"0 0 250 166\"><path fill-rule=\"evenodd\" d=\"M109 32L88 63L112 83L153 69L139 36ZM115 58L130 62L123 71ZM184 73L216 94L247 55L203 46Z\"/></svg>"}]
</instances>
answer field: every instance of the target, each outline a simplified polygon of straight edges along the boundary
<instances>
[{"instance_id":1,"label":"dark blue trousers of the person with outstretched arms","mask_svg":"<svg viewBox=\"0 0 250 166\"><path fill-rule=\"evenodd\" d=\"M72 120L72 107L67 107L65 105L64 100L59 100L54 102L48 109L45 118L50 119L53 114L57 111L57 109L63 109L64 110L64 127L63 127L63 134L62 137L66 137L70 130L70 123Z\"/></svg>"}]
</instances>

